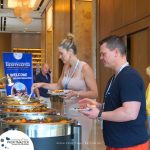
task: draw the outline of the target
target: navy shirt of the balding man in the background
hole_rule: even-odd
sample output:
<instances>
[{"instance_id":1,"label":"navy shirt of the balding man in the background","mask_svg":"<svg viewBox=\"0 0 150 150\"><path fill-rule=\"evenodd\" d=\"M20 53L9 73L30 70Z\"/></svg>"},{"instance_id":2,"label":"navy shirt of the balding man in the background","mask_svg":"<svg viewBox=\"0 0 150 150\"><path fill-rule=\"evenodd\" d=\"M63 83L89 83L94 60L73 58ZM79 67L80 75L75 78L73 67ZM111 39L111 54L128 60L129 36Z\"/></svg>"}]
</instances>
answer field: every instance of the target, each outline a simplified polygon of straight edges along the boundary
<instances>
[{"instance_id":1,"label":"navy shirt of the balding man in the background","mask_svg":"<svg viewBox=\"0 0 150 150\"><path fill-rule=\"evenodd\" d=\"M46 76L44 76L41 72L35 78L36 83L38 83L38 82L50 83L50 81L51 81L50 75L46 74ZM39 88L40 96L46 97L46 98L49 97L49 94L47 94L47 92L48 92L47 89L44 89L42 87Z\"/></svg>"}]
</instances>

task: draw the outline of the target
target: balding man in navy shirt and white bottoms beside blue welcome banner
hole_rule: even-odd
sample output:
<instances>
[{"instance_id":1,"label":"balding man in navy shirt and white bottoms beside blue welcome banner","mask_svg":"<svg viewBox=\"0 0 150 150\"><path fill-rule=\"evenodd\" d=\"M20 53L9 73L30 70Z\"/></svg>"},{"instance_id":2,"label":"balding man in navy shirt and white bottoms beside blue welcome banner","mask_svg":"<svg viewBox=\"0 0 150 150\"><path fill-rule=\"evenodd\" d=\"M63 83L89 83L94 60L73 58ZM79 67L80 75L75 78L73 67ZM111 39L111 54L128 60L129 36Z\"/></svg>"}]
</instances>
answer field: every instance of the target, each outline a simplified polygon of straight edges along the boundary
<instances>
[{"instance_id":1,"label":"balding man in navy shirt and white bottoms beside blue welcome banner","mask_svg":"<svg viewBox=\"0 0 150 150\"><path fill-rule=\"evenodd\" d=\"M50 76L50 68L49 65L44 63L41 68L41 72L36 75L35 82L44 82L44 83L50 83L51 82L51 76ZM48 94L48 90L45 88L36 88L35 94L41 100L41 103L46 104L47 108L51 108L51 101Z\"/></svg>"}]
</instances>

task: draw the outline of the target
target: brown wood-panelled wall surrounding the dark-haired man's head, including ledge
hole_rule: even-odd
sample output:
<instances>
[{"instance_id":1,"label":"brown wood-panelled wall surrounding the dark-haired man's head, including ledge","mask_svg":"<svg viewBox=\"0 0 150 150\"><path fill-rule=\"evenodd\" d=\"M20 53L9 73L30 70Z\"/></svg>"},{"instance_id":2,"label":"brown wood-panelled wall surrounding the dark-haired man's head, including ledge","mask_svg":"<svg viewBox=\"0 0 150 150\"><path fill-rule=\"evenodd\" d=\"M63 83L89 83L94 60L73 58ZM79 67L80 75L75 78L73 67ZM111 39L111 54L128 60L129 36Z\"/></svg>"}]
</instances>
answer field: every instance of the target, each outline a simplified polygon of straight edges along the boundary
<instances>
[{"instance_id":1,"label":"brown wood-panelled wall surrounding the dark-haired man's head, including ledge","mask_svg":"<svg viewBox=\"0 0 150 150\"><path fill-rule=\"evenodd\" d=\"M131 35L131 62L142 74L147 86L148 78L145 67L150 65L150 1L149 0L98 0L97 1L97 58L99 57L98 40L111 34ZM142 61L142 62L141 62ZM100 98L106 80L112 74L103 68L97 60L97 80L100 84Z\"/></svg>"}]
</instances>

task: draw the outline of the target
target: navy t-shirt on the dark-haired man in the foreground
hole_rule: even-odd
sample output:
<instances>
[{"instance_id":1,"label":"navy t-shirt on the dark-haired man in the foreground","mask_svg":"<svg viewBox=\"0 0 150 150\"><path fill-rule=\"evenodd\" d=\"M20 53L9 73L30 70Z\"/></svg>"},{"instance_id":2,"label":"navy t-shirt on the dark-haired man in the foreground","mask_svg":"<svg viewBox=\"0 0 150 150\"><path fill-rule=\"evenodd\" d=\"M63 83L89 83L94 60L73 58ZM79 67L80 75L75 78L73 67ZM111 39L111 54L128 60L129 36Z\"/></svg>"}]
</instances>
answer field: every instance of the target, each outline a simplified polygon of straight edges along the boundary
<instances>
[{"instance_id":1,"label":"navy t-shirt on the dark-haired man in the foreground","mask_svg":"<svg viewBox=\"0 0 150 150\"><path fill-rule=\"evenodd\" d=\"M145 126L145 88L143 80L137 71L130 66L123 68L112 81L109 91L106 91L104 111L113 111L121 107L124 102L129 101L141 102L141 108L137 119L133 121L112 122L104 120L103 136L105 144L109 147L126 148L146 142L148 134Z\"/></svg>"}]
</instances>

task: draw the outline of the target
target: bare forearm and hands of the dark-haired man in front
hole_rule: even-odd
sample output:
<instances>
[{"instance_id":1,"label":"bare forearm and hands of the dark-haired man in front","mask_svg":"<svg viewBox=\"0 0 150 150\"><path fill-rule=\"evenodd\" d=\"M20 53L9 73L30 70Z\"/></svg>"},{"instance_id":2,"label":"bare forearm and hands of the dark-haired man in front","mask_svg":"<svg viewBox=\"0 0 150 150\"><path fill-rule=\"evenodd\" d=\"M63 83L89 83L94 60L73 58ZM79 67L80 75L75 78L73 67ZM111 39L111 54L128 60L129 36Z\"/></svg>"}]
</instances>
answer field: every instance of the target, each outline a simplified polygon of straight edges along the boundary
<instances>
[{"instance_id":1,"label":"bare forearm and hands of the dark-haired man in front","mask_svg":"<svg viewBox=\"0 0 150 150\"><path fill-rule=\"evenodd\" d=\"M82 105L84 105L84 107L88 106L88 104L98 106L98 103L92 102L92 100L90 99L80 100L79 104L81 107ZM125 122L135 120L139 114L140 107L141 103L139 101L124 102L122 107L119 107L113 111L102 112L101 119L114 122ZM90 111L81 111L81 113L83 113L91 119L97 118L99 112L100 110L97 107L91 107Z\"/></svg>"}]
</instances>

